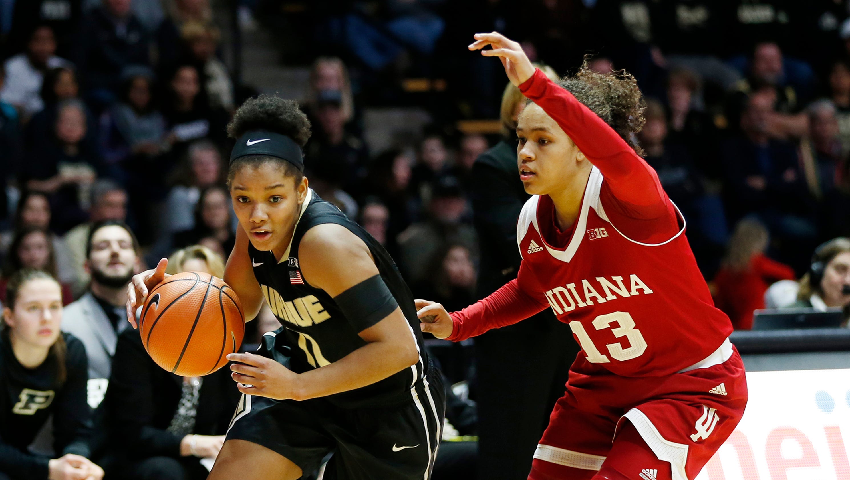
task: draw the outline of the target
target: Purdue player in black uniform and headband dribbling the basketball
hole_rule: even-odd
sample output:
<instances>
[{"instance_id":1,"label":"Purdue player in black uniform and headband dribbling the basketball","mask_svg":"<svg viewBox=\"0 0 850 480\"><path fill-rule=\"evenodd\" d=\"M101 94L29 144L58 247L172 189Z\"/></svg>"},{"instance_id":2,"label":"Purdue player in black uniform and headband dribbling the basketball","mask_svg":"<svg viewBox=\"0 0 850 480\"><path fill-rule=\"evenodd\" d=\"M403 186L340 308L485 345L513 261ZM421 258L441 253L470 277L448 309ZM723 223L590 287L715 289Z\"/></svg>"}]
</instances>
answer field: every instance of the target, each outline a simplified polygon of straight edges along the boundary
<instances>
[{"instance_id":1,"label":"Purdue player in black uniform and headband dribbling the basketball","mask_svg":"<svg viewBox=\"0 0 850 480\"><path fill-rule=\"evenodd\" d=\"M247 100L228 133L240 228L224 280L246 318L264 300L283 326L258 353L228 356L243 397L209 478L294 480L332 452L325 478L428 480L445 391L398 268L309 189L297 103ZM166 263L133 278L131 322Z\"/></svg>"}]
</instances>

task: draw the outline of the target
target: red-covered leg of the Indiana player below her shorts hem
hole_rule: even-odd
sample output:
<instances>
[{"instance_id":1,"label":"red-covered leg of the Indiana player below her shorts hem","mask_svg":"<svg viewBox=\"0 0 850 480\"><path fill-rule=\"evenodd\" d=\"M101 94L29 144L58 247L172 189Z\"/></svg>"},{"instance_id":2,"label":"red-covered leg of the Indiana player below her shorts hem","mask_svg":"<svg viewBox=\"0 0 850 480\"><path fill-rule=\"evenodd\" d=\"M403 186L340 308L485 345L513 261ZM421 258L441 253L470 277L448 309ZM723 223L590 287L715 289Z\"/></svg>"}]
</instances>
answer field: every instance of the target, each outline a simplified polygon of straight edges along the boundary
<instances>
[{"instance_id":1,"label":"red-covered leg of the Indiana player below her shorts hem","mask_svg":"<svg viewBox=\"0 0 850 480\"><path fill-rule=\"evenodd\" d=\"M608 458L592 480L671 480L670 462L659 460L640 433L625 421Z\"/></svg>"}]
</instances>

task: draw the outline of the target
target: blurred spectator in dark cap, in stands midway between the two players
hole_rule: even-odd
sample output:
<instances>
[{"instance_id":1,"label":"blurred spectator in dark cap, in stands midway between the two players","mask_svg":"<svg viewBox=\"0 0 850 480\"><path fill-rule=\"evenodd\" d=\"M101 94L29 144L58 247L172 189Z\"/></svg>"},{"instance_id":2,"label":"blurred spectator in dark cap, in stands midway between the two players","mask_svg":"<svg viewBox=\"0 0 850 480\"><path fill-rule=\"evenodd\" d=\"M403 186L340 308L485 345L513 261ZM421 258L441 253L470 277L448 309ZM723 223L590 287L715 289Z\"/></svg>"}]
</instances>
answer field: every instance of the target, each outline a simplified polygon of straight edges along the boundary
<instances>
[{"instance_id":1,"label":"blurred spectator in dark cap, in stands midway between the two players","mask_svg":"<svg viewBox=\"0 0 850 480\"><path fill-rule=\"evenodd\" d=\"M407 273L406 280L412 284L425 280L428 261L446 243L456 243L477 252L475 229L462 221L466 212L467 200L457 178L439 178L428 202L428 219L413 223L399 234L400 260Z\"/></svg>"}]
</instances>

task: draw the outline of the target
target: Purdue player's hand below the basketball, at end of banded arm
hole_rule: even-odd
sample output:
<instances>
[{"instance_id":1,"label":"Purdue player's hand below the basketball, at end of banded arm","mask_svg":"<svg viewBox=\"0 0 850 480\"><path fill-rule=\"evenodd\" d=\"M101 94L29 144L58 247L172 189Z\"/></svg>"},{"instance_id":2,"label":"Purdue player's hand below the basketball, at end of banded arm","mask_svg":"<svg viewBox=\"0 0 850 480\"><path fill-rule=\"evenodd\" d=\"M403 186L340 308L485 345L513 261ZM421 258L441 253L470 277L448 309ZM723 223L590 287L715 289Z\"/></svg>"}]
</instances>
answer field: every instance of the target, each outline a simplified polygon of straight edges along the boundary
<instances>
[{"instance_id":1,"label":"Purdue player's hand below the basketball, at end of banded arm","mask_svg":"<svg viewBox=\"0 0 850 480\"><path fill-rule=\"evenodd\" d=\"M230 376L246 395L287 400L300 398L298 374L273 359L254 353L230 353Z\"/></svg>"}]
</instances>

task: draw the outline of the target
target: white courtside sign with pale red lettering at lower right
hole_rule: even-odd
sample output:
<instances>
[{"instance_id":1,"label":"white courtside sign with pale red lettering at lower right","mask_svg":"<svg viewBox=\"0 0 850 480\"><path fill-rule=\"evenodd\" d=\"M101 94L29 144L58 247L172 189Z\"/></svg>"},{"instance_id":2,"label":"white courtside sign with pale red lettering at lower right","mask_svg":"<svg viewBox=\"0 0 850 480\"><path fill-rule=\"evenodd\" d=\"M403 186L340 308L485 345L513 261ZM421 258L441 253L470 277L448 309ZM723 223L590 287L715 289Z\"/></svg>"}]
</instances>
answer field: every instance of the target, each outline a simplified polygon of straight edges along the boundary
<instances>
[{"instance_id":1,"label":"white courtside sign with pale red lettering at lower right","mask_svg":"<svg viewBox=\"0 0 850 480\"><path fill-rule=\"evenodd\" d=\"M850 370L746 379L744 418L696 480L850 480Z\"/></svg>"}]
</instances>

